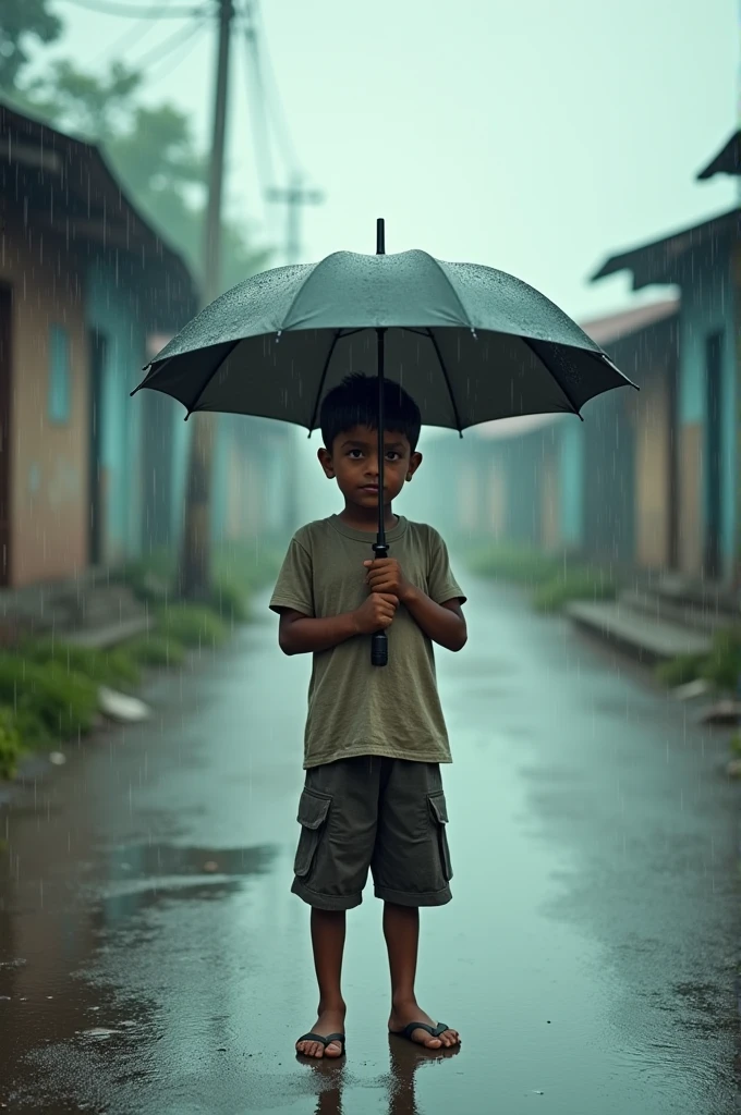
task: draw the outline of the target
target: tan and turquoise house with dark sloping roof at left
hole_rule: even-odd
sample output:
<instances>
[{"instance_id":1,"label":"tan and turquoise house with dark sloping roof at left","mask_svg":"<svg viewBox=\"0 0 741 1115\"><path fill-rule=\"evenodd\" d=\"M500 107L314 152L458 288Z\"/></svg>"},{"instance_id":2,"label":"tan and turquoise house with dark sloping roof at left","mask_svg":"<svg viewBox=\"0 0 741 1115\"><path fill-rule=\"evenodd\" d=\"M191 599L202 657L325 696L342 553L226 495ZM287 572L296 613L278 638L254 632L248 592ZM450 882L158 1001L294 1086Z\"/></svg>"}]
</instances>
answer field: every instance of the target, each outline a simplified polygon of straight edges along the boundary
<instances>
[{"instance_id":1,"label":"tan and turquoise house with dark sloping roof at left","mask_svg":"<svg viewBox=\"0 0 741 1115\"><path fill-rule=\"evenodd\" d=\"M128 391L196 295L97 147L4 105L0 202L0 584L18 586L139 553L156 437Z\"/></svg>"}]
</instances>

